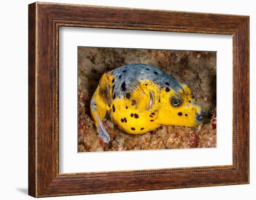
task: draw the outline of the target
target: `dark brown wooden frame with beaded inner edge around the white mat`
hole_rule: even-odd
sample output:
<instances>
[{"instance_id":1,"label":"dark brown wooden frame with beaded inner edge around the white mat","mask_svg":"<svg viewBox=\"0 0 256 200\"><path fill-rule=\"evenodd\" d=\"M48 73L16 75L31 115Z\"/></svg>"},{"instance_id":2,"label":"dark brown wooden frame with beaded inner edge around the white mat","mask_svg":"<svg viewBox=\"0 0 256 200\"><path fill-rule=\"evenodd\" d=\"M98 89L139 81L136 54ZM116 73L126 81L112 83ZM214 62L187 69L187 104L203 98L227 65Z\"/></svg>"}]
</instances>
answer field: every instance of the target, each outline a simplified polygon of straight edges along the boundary
<instances>
[{"instance_id":1,"label":"dark brown wooden frame with beaded inner edge around the white mat","mask_svg":"<svg viewBox=\"0 0 256 200\"><path fill-rule=\"evenodd\" d=\"M249 183L249 16L38 2L30 4L28 11L29 195L47 197ZM60 26L232 35L233 164L59 174Z\"/></svg>"}]
</instances>

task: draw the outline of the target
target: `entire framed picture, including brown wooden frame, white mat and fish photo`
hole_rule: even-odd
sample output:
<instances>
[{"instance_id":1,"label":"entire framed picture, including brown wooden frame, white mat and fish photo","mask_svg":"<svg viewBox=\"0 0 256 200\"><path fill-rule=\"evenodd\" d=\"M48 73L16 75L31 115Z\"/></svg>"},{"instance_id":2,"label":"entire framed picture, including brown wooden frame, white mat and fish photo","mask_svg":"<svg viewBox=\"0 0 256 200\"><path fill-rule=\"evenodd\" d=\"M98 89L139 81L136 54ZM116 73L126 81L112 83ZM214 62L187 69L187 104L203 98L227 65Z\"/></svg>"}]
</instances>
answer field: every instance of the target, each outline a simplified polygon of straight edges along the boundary
<instances>
[{"instance_id":1,"label":"entire framed picture, including brown wooden frame, white mat and fish photo","mask_svg":"<svg viewBox=\"0 0 256 200\"><path fill-rule=\"evenodd\" d=\"M29 195L249 183L249 16L28 7Z\"/></svg>"}]
</instances>

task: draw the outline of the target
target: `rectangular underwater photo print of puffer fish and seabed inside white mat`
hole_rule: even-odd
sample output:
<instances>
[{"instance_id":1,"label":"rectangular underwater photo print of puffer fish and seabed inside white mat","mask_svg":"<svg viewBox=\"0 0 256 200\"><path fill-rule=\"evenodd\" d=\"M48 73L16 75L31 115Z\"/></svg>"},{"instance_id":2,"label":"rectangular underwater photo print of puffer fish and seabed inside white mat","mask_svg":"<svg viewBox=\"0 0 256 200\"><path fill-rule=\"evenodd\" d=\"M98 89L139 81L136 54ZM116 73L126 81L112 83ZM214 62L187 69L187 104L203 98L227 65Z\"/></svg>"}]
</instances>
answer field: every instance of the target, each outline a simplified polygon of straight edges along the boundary
<instances>
[{"instance_id":1,"label":"rectangular underwater photo print of puffer fish and seabed inside white mat","mask_svg":"<svg viewBox=\"0 0 256 200\"><path fill-rule=\"evenodd\" d=\"M78 52L79 152L216 147L216 52L92 47ZM129 75L133 67L136 76ZM151 71L148 79L138 76L143 71ZM173 77L153 80L154 71ZM105 97L102 88L109 91ZM103 109L97 112L97 106ZM202 110L205 119L198 125ZM98 133L99 123L107 136Z\"/></svg>"}]
</instances>

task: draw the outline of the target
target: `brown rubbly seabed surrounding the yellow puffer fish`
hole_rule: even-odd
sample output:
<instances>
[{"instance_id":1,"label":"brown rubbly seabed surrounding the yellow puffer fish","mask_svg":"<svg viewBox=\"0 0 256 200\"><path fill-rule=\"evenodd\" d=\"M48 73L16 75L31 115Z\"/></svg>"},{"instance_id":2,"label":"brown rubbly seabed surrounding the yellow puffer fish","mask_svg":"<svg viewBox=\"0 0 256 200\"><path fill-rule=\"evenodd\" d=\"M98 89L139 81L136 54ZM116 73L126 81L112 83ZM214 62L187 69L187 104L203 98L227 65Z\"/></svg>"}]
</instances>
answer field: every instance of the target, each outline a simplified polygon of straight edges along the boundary
<instances>
[{"instance_id":1,"label":"brown rubbly seabed surrounding the yellow puffer fish","mask_svg":"<svg viewBox=\"0 0 256 200\"><path fill-rule=\"evenodd\" d=\"M106 119L112 140L103 142L91 119L89 102L104 72L132 63L154 65L189 84L205 112L204 122L193 128L163 126L130 135ZM216 147L216 52L79 47L78 73L79 152Z\"/></svg>"}]
</instances>

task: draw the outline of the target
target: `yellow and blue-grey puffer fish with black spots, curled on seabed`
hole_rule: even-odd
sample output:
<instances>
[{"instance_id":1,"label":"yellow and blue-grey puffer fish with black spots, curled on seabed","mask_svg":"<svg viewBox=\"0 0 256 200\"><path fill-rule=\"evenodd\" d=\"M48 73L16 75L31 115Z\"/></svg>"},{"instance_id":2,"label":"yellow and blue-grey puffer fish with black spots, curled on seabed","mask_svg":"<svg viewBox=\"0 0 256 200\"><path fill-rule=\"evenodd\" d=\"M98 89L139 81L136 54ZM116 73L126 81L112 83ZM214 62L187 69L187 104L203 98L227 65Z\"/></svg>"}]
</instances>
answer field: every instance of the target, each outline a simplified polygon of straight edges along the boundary
<instances>
[{"instance_id":1,"label":"yellow and blue-grey puffer fish with black spots, curled on seabed","mask_svg":"<svg viewBox=\"0 0 256 200\"><path fill-rule=\"evenodd\" d=\"M109 117L128 134L143 134L162 125L193 127L203 120L202 108L187 84L151 65L131 64L104 73L90 111L104 142L110 137L102 120Z\"/></svg>"}]
</instances>

